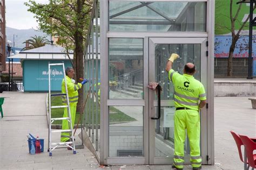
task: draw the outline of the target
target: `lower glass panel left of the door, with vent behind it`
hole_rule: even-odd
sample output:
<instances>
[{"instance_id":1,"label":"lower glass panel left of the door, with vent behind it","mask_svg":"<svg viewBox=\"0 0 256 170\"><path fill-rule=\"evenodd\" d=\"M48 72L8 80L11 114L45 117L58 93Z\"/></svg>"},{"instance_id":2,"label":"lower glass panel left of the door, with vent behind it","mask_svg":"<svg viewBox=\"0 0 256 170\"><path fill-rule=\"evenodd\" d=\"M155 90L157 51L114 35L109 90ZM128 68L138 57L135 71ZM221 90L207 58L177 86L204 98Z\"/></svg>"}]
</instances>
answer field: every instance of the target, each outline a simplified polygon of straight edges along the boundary
<instances>
[{"instance_id":1,"label":"lower glass panel left of the door, with vent behind it","mask_svg":"<svg viewBox=\"0 0 256 170\"><path fill-rule=\"evenodd\" d=\"M109 107L109 157L143 157L143 107Z\"/></svg>"}]
</instances>

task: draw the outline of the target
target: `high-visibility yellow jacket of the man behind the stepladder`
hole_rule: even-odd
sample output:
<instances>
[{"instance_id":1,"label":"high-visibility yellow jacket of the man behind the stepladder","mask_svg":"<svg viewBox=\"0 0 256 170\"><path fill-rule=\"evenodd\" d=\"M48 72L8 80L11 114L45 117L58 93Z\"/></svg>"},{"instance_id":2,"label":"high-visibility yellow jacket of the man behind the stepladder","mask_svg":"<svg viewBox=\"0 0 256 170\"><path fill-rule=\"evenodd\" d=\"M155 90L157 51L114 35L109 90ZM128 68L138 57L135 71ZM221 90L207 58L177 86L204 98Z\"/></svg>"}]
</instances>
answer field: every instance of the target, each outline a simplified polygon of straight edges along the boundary
<instances>
[{"instance_id":1,"label":"high-visibility yellow jacket of the man behind the stepladder","mask_svg":"<svg viewBox=\"0 0 256 170\"><path fill-rule=\"evenodd\" d=\"M68 87L70 106L76 106L78 102L78 89L82 88L81 83L73 84L70 77L66 76L66 86ZM65 80L62 80L62 94L66 93ZM63 105L67 105L66 96L62 96Z\"/></svg>"}]
</instances>

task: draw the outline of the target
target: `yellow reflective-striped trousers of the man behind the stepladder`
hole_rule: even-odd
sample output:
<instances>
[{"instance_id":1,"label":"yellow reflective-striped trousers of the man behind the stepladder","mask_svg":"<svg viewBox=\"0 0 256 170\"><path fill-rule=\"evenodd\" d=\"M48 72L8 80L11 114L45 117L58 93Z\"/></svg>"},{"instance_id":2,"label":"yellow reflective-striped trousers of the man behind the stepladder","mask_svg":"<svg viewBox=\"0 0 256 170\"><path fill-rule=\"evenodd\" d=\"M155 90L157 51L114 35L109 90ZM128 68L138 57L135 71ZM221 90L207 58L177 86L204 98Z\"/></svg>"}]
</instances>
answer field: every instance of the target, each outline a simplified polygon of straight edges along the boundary
<instances>
[{"instance_id":1,"label":"yellow reflective-striped trousers of the man behind the stepladder","mask_svg":"<svg viewBox=\"0 0 256 170\"><path fill-rule=\"evenodd\" d=\"M77 106L70 106L70 114L71 114L71 120L72 120L72 127L75 124L75 119L76 119L76 111L77 111ZM68 117L68 108L64 108L64 114L63 117ZM69 127L69 122L67 120L62 120L62 130L64 129L70 129ZM60 136L60 141L64 142L69 140L69 137L71 137L71 133L69 132L62 132Z\"/></svg>"}]
</instances>

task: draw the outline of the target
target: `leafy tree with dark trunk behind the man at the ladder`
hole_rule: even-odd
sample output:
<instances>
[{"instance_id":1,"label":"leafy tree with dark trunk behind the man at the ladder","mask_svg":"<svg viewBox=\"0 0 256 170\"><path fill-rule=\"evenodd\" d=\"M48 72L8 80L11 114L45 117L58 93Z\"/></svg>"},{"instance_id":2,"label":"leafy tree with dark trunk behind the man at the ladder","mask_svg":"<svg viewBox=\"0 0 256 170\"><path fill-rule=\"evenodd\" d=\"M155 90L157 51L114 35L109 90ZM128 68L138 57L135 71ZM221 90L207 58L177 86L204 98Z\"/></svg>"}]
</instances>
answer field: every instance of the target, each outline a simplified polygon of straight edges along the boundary
<instances>
[{"instance_id":1,"label":"leafy tree with dark trunk behind the man at the ladder","mask_svg":"<svg viewBox=\"0 0 256 170\"><path fill-rule=\"evenodd\" d=\"M76 72L74 79L79 81L84 76L83 50L91 18L93 0L49 0L48 3L37 3L29 0L25 3L28 11L35 15L39 29L59 37L57 43L65 48L70 62ZM73 51L71 60L69 52ZM78 91L78 112L83 108L83 90Z\"/></svg>"}]
</instances>

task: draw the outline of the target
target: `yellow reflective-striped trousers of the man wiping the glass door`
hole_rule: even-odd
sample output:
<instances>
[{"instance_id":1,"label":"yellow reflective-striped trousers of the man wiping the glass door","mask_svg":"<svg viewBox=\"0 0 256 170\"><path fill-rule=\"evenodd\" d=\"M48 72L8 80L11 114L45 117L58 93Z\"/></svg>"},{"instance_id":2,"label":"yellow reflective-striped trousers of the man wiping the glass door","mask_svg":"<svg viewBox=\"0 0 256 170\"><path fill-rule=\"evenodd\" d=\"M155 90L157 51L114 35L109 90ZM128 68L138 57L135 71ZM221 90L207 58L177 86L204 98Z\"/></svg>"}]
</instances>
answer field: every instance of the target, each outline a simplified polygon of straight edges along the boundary
<instances>
[{"instance_id":1,"label":"yellow reflective-striped trousers of the man wiping the glass door","mask_svg":"<svg viewBox=\"0 0 256 170\"><path fill-rule=\"evenodd\" d=\"M187 136L190 141L192 167L201 166L200 157L200 116L197 110L176 110L174 114L174 159L173 165L183 168L184 143Z\"/></svg>"}]
</instances>

